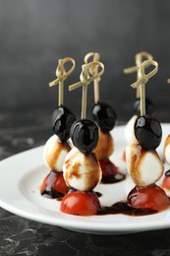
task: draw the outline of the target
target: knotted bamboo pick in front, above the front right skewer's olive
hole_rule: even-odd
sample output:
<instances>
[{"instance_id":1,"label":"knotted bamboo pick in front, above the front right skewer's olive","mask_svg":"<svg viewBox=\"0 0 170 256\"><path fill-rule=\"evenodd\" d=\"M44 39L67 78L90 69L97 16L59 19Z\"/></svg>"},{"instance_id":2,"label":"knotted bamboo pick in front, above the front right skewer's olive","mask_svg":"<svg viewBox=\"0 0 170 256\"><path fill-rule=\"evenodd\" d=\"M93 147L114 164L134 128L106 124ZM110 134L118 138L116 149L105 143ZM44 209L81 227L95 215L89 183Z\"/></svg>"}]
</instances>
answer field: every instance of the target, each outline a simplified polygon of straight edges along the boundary
<instances>
[{"instance_id":1,"label":"knotted bamboo pick in front, above the front right skewer's olive","mask_svg":"<svg viewBox=\"0 0 170 256\"><path fill-rule=\"evenodd\" d=\"M145 69L153 66L154 69L145 74ZM141 93L141 115L145 115L145 84L153 77L158 71L158 63L154 60L145 60L139 66L139 79L131 87L134 89L140 88Z\"/></svg>"}]
</instances>

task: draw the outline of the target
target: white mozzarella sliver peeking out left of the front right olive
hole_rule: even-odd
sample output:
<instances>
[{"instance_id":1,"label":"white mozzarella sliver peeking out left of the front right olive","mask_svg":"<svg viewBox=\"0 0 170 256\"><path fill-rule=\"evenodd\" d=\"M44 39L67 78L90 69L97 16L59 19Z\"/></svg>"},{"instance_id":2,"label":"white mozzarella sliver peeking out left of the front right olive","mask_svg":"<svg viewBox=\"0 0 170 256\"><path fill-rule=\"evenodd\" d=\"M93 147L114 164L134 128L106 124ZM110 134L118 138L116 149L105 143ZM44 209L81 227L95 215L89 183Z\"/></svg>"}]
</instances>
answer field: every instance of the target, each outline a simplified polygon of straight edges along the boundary
<instances>
[{"instance_id":1,"label":"white mozzarella sliver peeking out left of the front right olive","mask_svg":"<svg viewBox=\"0 0 170 256\"><path fill-rule=\"evenodd\" d=\"M135 133L134 133L134 125L138 118L138 115L134 115L129 122L127 123L125 127L125 139L128 144L139 144L139 141L137 140Z\"/></svg>"}]
</instances>

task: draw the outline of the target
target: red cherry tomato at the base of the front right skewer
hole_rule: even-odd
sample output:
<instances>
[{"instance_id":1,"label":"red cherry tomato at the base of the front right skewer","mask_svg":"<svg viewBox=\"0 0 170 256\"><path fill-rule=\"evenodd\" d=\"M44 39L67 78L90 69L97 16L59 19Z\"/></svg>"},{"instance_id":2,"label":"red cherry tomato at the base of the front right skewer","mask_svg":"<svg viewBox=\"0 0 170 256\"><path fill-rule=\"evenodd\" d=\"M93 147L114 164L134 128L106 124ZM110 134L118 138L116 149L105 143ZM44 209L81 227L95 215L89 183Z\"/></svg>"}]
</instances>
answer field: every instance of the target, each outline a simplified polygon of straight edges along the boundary
<instances>
[{"instance_id":1,"label":"red cherry tomato at the base of the front right skewer","mask_svg":"<svg viewBox=\"0 0 170 256\"><path fill-rule=\"evenodd\" d=\"M159 212L169 206L169 198L155 184L147 187L136 186L128 195L128 205Z\"/></svg>"}]
</instances>

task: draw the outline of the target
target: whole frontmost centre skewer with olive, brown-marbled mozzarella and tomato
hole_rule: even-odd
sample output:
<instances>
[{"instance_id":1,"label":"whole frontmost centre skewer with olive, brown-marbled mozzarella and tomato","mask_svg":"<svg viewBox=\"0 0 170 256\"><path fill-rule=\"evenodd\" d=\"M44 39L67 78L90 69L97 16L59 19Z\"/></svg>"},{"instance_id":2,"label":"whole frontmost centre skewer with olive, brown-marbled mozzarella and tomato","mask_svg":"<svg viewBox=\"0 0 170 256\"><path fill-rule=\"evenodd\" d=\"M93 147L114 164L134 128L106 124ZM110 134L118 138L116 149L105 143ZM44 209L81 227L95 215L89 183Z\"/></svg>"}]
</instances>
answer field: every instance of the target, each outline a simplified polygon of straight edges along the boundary
<instances>
[{"instance_id":1,"label":"whole frontmost centre skewer with olive, brown-marbled mozzarella and tomato","mask_svg":"<svg viewBox=\"0 0 170 256\"><path fill-rule=\"evenodd\" d=\"M89 76L91 66L100 67L101 71ZM100 182L101 169L92 153L98 143L98 127L86 119L87 86L103 74L104 66L100 62L92 62L82 68L81 82L69 87L70 91L83 87L82 119L76 121L71 128L71 139L75 147L67 155L63 167L66 184L71 189L64 196L60 210L66 214L89 216L100 210L93 188Z\"/></svg>"}]
</instances>

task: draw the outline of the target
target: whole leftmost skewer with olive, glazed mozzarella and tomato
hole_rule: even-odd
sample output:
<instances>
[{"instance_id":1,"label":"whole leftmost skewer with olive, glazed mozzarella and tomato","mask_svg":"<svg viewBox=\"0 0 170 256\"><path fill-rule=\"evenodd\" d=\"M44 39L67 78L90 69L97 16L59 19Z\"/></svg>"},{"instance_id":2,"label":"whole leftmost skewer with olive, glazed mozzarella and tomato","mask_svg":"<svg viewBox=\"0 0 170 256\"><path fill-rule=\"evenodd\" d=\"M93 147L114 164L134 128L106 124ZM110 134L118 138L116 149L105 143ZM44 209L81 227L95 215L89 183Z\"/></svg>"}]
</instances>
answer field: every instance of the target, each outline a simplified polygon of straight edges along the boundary
<instances>
[{"instance_id":1,"label":"whole leftmost skewer with olive, glazed mozzarella and tomato","mask_svg":"<svg viewBox=\"0 0 170 256\"><path fill-rule=\"evenodd\" d=\"M69 71L66 71L64 67L67 62L72 63ZM74 69L74 59L59 59L56 69L56 76L58 78L49 83L50 87L59 84L58 107L52 116L54 135L46 142L43 155L44 162L50 169L50 173L45 177L41 185L41 195L51 198L61 198L69 190L63 178L63 164L67 154L71 150L68 139L70 138L70 128L76 121L76 117L68 107L63 105L63 99L64 80L72 74Z\"/></svg>"}]
</instances>

